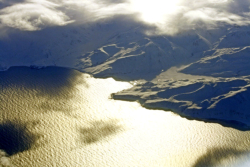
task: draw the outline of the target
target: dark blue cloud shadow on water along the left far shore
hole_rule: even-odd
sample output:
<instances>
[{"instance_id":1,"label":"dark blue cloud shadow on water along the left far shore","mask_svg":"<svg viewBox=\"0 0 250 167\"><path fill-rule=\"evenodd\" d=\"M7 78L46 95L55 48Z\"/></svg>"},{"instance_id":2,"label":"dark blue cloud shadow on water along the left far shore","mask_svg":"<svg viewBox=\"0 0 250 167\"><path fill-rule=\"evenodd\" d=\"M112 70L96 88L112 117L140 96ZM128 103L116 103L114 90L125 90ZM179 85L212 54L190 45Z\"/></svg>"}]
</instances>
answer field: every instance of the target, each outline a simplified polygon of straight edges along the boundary
<instances>
[{"instance_id":1,"label":"dark blue cloud shadow on water along the left far shore","mask_svg":"<svg viewBox=\"0 0 250 167\"><path fill-rule=\"evenodd\" d=\"M8 87L24 87L37 90L37 95L57 97L61 93L70 93L76 84L87 83L78 77L82 75L76 70L62 67L45 67L36 69L34 67L11 67L7 71L0 71L0 85L2 89ZM63 97L70 97L68 96Z\"/></svg>"}]
</instances>

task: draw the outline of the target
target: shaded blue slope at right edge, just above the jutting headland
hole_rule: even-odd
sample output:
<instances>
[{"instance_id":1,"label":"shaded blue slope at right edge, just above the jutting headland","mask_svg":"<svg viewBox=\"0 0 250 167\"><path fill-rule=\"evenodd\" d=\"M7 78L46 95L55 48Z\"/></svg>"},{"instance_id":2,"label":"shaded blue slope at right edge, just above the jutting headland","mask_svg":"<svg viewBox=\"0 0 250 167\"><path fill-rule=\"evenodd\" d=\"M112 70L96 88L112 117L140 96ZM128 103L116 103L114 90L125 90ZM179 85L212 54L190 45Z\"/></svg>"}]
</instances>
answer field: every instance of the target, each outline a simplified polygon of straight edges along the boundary
<instances>
[{"instance_id":1,"label":"shaded blue slope at right edge, just above the jutting headland","mask_svg":"<svg viewBox=\"0 0 250 167\"><path fill-rule=\"evenodd\" d=\"M216 49L211 56L186 66L184 73L218 77L250 75L250 46Z\"/></svg>"}]
</instances>

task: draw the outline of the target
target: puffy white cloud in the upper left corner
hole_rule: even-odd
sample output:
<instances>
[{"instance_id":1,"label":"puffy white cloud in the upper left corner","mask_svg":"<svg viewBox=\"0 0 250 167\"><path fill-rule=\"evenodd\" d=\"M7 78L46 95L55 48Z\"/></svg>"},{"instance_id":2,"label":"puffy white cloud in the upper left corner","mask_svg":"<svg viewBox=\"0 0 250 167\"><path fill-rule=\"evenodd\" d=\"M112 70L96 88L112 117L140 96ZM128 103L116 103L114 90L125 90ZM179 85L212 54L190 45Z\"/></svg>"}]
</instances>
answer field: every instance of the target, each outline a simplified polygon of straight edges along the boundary
<instances>
[{"instance_id":1,"label":"puffy white cloud in the upper left corner","mask_svg":"<svg viewBox=\"0 0 250 167\"><path fill-rule=\"evenodd\" d=\"M0 10L1 26L34 31L70 23L69 17L57 10L57 7L57 4L46 0L16 3Z\"/></svg>"}]
</instances>

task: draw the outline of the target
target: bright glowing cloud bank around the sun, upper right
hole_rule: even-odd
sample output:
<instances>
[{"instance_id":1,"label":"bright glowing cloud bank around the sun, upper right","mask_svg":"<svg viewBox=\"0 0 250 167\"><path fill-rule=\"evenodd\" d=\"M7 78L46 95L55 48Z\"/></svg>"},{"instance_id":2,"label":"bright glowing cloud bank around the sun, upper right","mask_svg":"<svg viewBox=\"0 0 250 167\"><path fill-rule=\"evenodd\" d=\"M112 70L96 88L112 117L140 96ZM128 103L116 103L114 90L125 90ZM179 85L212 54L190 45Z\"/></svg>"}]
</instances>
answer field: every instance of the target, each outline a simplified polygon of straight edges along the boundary
<instances>
[{"instance_id":1,"label":"bright glowing cloud bank around the sun, upper right","mask_svg":"<svg viewBox=\"0 0 250 167\"><path fill-rule=\"evenodd\" d=\"M142 0L131 0L132 4L136 1ZM241 6L244 2L244 6L249 7L249 0L236 2L231 0L177 0L174 3L156 0L156 2L158 3L154 4L150 1L144 7L146 9L142 10L140 4L143 2L135 3L135 7L140 13L138 20L155 26L158 34L171 35L201 26L211 28L220 23L231 25L248 25L250 23L246 10L242 10ZM238 6L238 9L233 11L233 6ZM148 19L150 17L152 19Z\"/></svg>"}]
</instances>

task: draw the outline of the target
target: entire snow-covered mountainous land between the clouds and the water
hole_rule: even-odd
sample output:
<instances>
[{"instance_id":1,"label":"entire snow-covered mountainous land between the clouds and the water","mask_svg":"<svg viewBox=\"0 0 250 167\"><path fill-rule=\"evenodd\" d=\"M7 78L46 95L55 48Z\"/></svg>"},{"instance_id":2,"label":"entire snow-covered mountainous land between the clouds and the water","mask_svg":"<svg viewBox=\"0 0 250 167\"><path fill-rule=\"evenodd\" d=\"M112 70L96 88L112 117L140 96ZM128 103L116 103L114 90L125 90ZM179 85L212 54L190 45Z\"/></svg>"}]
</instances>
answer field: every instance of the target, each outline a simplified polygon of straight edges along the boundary
<instances>
[{"instance_id":1,"label":"entire snow-covered mountainous land between the clouds and the water","mask_svg":"<svg viewBox=\"0 0 250 167\"><path fill-rule=\"evenodd\" d=\"M250 27L150 36L127 21L11 33L0 39L0 68L62 66L131 81L113 98L250 127Z\"/></svg>"}]
</instances>

